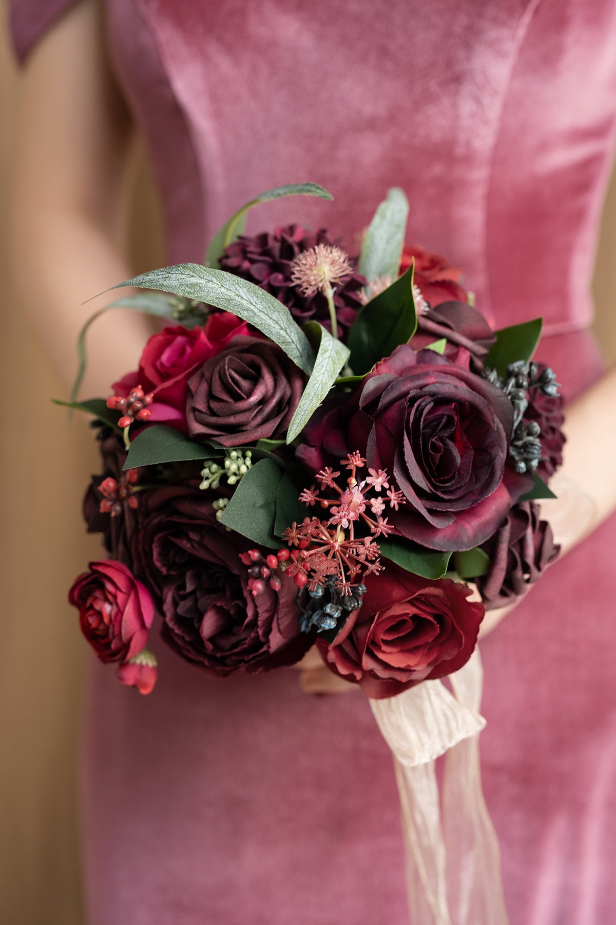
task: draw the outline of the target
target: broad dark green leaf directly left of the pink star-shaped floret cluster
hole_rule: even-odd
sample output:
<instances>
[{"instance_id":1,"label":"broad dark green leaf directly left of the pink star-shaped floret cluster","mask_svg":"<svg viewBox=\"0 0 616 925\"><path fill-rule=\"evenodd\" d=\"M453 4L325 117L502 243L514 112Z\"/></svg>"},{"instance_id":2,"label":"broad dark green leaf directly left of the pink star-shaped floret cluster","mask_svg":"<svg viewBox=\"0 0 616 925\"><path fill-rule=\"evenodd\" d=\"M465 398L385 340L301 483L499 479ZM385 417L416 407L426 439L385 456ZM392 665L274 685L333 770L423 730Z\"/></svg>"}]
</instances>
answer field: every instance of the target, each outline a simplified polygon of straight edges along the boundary
<instances>
[{"instance_id":1,"label":"broad dark green leaf directly left of the pink star-shaped floret cluster","mask_svg":"<svg viewBox=\"0 0 616 925\"><path fill-rule=\"evenodd\" d=\"M221 524L270 549L280 547L274 536L276 495L283 470L264 459L248 469L224 508Z\"/></svg>"}]
</instances>

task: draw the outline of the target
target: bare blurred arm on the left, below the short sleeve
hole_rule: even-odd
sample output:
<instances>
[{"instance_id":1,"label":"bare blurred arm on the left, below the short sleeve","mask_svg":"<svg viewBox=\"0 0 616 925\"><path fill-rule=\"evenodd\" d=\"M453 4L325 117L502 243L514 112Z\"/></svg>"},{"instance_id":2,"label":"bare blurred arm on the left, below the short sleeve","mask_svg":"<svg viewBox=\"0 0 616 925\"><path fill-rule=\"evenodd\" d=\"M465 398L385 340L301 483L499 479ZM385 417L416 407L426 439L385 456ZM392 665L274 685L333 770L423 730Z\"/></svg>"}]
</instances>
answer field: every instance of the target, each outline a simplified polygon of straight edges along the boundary
<instances>
[{"instance_id":1,"label":"bare blurred arm on the left, below the short sleeve","mask_svg":"<svg viewBox=\"0 0 616 925\"><path fill-rule=\"evenodd\" d=\"M23 71L13 207L18 298L67 383L79 328L111 298L81 303L130 276L121 234L130 136L104 55L101 10L96 0L81 0ZM82 394L109 394L115 378L134 368L149 333L141 315L103 315Z\"/></svg>"}]
</instances>

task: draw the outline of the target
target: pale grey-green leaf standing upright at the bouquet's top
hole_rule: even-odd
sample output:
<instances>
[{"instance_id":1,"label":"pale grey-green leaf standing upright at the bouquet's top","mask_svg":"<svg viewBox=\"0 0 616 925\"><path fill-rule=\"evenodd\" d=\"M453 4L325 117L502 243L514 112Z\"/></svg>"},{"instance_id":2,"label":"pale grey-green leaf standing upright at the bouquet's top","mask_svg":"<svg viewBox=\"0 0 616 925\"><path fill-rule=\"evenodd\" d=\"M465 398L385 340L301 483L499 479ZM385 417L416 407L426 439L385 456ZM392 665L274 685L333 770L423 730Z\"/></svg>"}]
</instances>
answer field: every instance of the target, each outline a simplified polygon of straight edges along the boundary
<instances>
[{"instance_id":1,"label":"pale grey-green leaf standing upright at the bouquet's top","mask_svg":"<svg viewBox=\"0 0 616 925\"><path fill-rule=\"evenodd\" d=\"M377 208L359 255L358 269L368 282L377 277L395 279L398 276L407 219L408 200L405 192L393 187L387 192L387 199Z\"/></svg>"}]
</instances>

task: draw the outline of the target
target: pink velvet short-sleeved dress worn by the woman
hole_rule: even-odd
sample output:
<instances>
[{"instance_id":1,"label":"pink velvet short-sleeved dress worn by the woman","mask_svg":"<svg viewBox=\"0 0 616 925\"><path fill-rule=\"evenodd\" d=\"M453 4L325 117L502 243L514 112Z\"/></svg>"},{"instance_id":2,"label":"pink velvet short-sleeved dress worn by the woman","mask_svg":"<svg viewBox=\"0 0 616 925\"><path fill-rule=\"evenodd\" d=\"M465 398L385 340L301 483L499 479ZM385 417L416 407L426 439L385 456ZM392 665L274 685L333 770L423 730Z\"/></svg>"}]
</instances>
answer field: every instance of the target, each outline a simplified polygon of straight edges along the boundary
<instances>
[{"instance_id":1,"label":"pink velvet short-sleeved dress worn by the woman","mask_svg":"<svg viewBox=\"0 0 616 925\"><path fill-rule=\"evenodd\" d=\"M20 56L66 0L16 0ZM169 263L255 193L350 250L390 186L408 240L464 266L498 326L546 321L574 398L601 373L589 278L616 121L616 0L108 0L109 55L150 148ZM76 512L76 516L78 512ZM616 518L484 643L484 786L512 925L616 920ZM407 921L392 759L356 690L217 682L162 644L138 697L92 666L91 925ZM413 923L421 925L421 923Z\"/></svg>"}]
</instances>

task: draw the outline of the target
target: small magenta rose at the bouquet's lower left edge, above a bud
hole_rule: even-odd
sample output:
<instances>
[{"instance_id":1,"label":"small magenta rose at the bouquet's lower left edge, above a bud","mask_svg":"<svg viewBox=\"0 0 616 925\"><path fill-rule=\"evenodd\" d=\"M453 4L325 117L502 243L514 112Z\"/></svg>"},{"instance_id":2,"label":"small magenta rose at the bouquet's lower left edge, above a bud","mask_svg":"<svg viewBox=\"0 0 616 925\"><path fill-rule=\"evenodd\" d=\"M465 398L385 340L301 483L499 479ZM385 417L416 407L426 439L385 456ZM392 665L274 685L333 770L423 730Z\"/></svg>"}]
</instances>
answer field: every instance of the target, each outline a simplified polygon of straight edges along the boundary
<instances>
[{"instance_id":1,"label":"small magenta rose at the bouquet's lower left edge, above a bud","mask_svg":"<svg viewBox=\"0 0 616 925\"><path fill-rule=\"evenodd\" d=\"M81 632L101 661L127 661L148 641L154 605L147 587L122 562L90 563L68 592Z\"/></svg>"}]
</instances>

